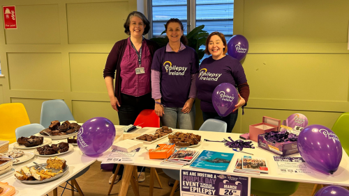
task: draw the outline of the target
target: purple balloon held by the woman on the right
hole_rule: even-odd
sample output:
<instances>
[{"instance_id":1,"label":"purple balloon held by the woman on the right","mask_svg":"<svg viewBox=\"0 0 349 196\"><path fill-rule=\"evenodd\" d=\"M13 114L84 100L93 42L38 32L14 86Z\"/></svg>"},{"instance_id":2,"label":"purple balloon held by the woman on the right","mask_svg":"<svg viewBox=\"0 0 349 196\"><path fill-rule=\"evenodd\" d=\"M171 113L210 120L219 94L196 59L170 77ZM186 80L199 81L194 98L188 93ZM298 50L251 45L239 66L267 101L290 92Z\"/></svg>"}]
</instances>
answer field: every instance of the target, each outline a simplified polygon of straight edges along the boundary
<instances>
[{"instance_id":1,"label":"purple balloon held by the woman on the right","mask_svg":"<svg viewBox=\"0 0 349 196\"><path fill-rule=\"evenodd\" d=\"M221 117L232 113L238 99L237 89L231 83L221 83L212 92L212 104Z\"/></svg>"}]
</instances>

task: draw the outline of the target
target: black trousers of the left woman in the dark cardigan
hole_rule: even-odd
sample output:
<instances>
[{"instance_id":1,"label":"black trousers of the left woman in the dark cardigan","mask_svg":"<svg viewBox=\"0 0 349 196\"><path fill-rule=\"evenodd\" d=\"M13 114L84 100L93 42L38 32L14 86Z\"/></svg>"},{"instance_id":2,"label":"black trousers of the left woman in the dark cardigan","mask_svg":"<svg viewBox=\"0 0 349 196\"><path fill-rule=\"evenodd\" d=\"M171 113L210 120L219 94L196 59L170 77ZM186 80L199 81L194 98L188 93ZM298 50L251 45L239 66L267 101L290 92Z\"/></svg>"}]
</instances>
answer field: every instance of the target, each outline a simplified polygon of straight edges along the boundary
<instances>
[{"instance_id":1,"label":"black trousers of the left woman in the dark cardigan","mask_svg":"<svg viewBox=\"0 0 349 196\"><path fill-rule=\"evenodd\" d=\"M120 107L117 107L119 110L118 115L120 125L133 124L142 110L154 110L155 105L154 99L151 98L151 93L140 97L121 93L121 103ZM138 172L144 172L144 169L142 170L142 168L143 167L137 167ZM115 170L117 170L117 164L114 164L114 168L112 168L113 174L115 173ZM122 172L124 172L124 165L120 166L117 174L122 175Z\"/></svg>"}]
</instances>

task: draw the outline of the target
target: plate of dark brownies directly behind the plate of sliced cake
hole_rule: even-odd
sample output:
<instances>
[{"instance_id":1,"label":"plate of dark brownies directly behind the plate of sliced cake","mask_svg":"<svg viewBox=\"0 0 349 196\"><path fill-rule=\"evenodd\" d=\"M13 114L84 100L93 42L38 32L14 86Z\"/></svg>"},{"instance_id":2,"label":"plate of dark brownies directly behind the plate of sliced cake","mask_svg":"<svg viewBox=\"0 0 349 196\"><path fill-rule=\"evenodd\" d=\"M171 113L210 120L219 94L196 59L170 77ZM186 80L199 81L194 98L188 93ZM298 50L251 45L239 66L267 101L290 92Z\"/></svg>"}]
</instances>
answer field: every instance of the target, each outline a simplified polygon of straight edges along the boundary
<instances>
[{"instance_id":1,"label":"plate of dark brownies directly behind the plate of sliced cake","mask_svg":"<svg viewBox=\"0 0 349 196\"><path fill-rule=\"evenodd\" d=\"M67 142L60 142L58 144L44 145L42 147L37 147L34 151L35 155L38 156L58 156L61 154L66 154L74 150L73 145Z\"/></svg>"}]
</instances>

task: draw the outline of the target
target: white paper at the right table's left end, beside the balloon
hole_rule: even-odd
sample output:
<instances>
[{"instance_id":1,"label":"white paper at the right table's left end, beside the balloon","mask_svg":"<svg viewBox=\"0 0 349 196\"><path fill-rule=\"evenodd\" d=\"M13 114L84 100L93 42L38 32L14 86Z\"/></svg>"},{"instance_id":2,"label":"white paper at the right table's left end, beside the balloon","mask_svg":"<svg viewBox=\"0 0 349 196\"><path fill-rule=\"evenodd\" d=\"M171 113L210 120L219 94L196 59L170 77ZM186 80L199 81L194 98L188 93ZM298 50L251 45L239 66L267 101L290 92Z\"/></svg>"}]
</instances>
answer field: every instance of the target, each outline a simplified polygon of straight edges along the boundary
<instances>
[{"instance_id":1,"label":"white paper at the right table's left end, beside the balloon","mask_svg":"<svg viewBox=\"0 0 349 196\"><path fill-rule=\"evenodd\" d=\"M106 156L101 164L107 163L134 163L135 155L140 152L140 148L135 149L131 152L123 152L117 149L112 149L112 152Z\"/></svg>"}]
</instances>

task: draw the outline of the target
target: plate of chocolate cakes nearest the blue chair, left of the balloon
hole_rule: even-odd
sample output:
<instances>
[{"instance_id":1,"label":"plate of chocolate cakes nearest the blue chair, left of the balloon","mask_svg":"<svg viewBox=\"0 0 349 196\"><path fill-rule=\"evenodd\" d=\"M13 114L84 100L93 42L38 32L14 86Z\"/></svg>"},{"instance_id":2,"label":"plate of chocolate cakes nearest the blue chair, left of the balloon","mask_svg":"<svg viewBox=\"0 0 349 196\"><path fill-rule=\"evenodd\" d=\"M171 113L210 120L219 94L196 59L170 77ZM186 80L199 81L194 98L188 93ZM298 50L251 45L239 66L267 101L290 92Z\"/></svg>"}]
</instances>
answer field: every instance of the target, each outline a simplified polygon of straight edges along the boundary
<instances>
[{"instance_id":1,"label":"plate of chocolate cakes nearest the blue chair, left of the balloon","mask_svg":"<svg viewBox=\"0 0 349 196\"><path fill-rule=\"evenodd\" d=\"M54 120L48 128L40 131L39 136L54 140L65 139L76 136L80 127L81 126L77 124L76 121L66 120L61 123L58 120Z\"/></svg>"}]
</instances>

